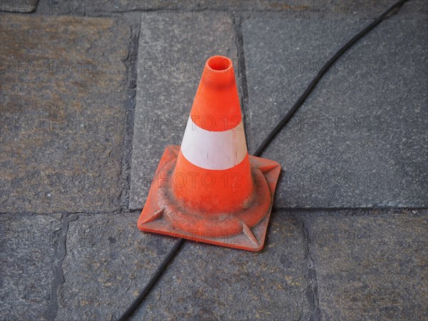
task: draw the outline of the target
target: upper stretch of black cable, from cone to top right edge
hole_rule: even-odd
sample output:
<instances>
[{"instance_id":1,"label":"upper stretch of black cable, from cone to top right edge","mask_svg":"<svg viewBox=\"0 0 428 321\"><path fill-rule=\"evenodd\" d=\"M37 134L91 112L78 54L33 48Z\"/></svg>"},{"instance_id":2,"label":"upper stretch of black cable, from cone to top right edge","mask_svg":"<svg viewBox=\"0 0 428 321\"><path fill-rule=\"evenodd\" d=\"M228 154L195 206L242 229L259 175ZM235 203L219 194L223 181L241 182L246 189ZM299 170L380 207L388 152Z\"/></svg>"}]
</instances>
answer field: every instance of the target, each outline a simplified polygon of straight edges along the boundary
<instances>
[{"instance_id":1,"label":"upper stretch of black cable, from cone to top right edge","mask_svg":"<svg viewBox=\"0 0 428 321\"><path fill-rule=\"evenodd\" d=\"M360 31L359 34L357 34L350 41L348 41L345 44L345 46L342 46L342 48L339 49L339 51L337 51L335 56L332 56L332 58L330 58L330 60L327 61L324 66L322 66L321 70L317 73L317 76L311 81L309 86L307 86L305 92L302 93L302 96L300 96L300 98L297 100L295 105L292 106L290 111L288 111L288 113L284 116L284 118L282 118L282 120L277 124L277 126L275 126L275 128L272 129L272 131L269 133L269 135L267 135L267 137L265 138L265 141L263 141L263 143L260 144L260 147L257 149L257 151L255 151L254 156L260 156L260 154L263 153L263 151L265 151L265 148L267 147L267 145L269 145L269 143L272 141L272 139L275 138L275 136L277 136L277 133L279 133L281 131L282 127L284 127L285 124L288 121L290 121L290 118L294 115L294 113L297 111L297 109L300 106L302 106L302 104L305 102L307 96L309 96L310 93L312 93L315 86L317 86L317 83L320 81L322 76L324 76L324 74L330 69L330 67L333 65L333 63L335 63L335 61L337 61L337 59L340 58L340 56L345 54L345 52L348 49L350 49L357 41L359 41L363 36L365 36L367 33L369 33L369 31L374 29L375 26L380 24L385 19L385 17L391 13L391 11L394 11L395 9L401 7L407 1L409 1L409 0L401 0L401 1L398 1L396 4L392 5L391 7L389 7L389 9L387 9L387 11L384 11L384 13L381 14L376 20L374 20L371 24L369 24L367 27L365 27L365 29Z\"/></svg>"}]
</instances>

